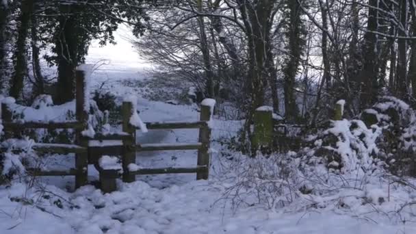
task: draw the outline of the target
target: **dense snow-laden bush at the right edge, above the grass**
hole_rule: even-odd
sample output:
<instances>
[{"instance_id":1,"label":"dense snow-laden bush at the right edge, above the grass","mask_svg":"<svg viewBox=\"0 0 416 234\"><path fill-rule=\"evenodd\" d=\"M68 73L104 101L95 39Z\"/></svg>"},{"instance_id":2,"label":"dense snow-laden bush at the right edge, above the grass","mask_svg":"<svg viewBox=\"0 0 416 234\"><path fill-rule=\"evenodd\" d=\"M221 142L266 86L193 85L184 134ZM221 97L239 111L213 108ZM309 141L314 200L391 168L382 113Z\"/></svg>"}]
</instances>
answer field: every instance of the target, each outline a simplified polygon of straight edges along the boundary
<instances>
[{"instance_id":1,"label":"dense snow-laden bush at the right edge, above the grass","mask_svg":"<svg viewBox=\"0 0 416 234\"><path fill-rule=\"evenodd\" d=\"M383 96L360 119L332 121L329 129L310 136L313 146L300 154L309 164L324 164L329 172L365 174L383 168L397 174L398 159L416 150L415 116L403 101Z\"/></svg>"}]
</instances>

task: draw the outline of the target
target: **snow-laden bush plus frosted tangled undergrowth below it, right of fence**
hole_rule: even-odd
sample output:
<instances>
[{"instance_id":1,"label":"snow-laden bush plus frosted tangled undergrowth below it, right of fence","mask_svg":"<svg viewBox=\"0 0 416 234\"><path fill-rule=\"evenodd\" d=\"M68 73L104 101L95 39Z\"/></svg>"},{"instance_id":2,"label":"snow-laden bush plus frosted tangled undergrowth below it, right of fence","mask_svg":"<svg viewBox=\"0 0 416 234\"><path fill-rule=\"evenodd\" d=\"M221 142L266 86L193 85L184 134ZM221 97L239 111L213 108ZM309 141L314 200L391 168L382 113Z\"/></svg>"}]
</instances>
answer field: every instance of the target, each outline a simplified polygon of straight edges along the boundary
<instances>
[{"instance_id":1,"label":"snow-laden bush plus frosted tangled undergrowth below it, right of fence","mask_svg":"<svg viewBox=\"0 0 416 234\"><path fill-rule=\"evenodd\" d=\"M415 180L402 175L413 175L415 168L415 110L385 96L363 113L354 120L330 122L298 152L250 158L223 149L231 162L222 173L233 178L224 198L272 209L380 209L392 216L406 210L414 216L408 209L413 199L408 190ZM370 115L376 122L368 121Z\"/></svg>"}]
</instances>

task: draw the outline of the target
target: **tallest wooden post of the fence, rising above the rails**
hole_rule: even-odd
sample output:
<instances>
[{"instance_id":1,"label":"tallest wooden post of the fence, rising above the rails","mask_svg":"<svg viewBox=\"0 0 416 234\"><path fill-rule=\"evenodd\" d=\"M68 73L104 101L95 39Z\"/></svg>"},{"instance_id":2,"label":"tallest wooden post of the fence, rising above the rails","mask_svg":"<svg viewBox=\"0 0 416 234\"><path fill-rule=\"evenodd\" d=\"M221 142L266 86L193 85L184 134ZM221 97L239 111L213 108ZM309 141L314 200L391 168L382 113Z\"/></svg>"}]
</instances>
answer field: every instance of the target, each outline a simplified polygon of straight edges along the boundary
<instances>
[{"instance_id":1,"label":"tallest wooden post of the fence, rising above the rails","mask_svg":"<svg viewBox=\"0 0 416 234\"><path fill-rule=\"evenodd\" d=\"M75 72L75 112L77 121L82 124L82 128L76 129L76 143L79 146L88 147L88 140L82 137L82 131L88 129L88 108L86 100L86 74L83 70L76 70ZM75 168L77 168L77 175L75 175L75 188L81 187L88 183L88 153L75 154Z\"/></svg>"}]
</instances>

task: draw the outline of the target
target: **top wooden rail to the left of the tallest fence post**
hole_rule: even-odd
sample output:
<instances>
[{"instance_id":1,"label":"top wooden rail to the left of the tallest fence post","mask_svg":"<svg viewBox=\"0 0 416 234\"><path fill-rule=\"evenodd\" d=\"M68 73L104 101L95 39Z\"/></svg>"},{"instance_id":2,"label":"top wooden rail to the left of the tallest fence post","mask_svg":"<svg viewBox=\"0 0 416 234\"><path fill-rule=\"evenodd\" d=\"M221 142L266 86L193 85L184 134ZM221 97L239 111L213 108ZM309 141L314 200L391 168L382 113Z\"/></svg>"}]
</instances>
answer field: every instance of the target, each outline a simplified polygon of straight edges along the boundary
<instances>
[{"instance_id":1,"label":"top wooden rail to the left of the tallest fence post","mask_svg":"<svg viewBox=\"0 0 416 234\"><path fill-rule=\"evenodd\" d=\"M81 129L80 122L4 122L5 129Z\"/></svg>"}]
</instances>

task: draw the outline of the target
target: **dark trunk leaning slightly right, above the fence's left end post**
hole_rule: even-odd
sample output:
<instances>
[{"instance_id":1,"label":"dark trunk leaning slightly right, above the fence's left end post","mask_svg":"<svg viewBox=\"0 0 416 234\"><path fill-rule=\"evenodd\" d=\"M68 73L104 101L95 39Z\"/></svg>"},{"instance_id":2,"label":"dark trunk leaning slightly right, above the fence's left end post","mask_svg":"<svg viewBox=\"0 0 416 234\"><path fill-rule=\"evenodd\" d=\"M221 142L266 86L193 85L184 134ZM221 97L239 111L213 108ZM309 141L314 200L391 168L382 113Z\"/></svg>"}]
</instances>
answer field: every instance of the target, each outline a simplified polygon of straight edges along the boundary
<instances>
[{"instance_id":1,"label":"dark trunk leaning slightly right, above the fence's left end post","mask_svg":"<svg viewBox=\"0 0 416 234\"><path fill-rule=\"evenodd\" d=\"M21 3L21 15L18 17L18 36L16 41L16 51L14 52L14 75L11 81L10 96L15 99L21 97L23 91L23 79L27 75L27 48L26 39L29 31L30 16L33 10L33 1L24 0Z\"/></svg>"}]
</instances>

